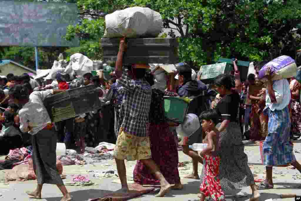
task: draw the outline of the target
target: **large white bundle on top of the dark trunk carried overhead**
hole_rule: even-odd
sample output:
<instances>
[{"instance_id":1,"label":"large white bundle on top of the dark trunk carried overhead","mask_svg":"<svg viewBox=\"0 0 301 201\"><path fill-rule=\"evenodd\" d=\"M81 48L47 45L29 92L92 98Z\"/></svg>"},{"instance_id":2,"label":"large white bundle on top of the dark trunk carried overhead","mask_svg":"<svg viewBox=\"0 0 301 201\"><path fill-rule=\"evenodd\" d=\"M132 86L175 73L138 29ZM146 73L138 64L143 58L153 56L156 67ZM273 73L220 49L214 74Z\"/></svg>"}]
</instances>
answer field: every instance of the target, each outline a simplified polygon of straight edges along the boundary
<instances>
[{"instance_id":1,"label":"large white bundle on top of the dark trunk carried overhead","mask_svg":"<svg viewBox=\"0 0 301 201\"><path fill-rule=\"evenodd\" d=\"M163 26L160 13L138 6L107 14L105 20L104 38L157 37Z\"/></svg>"}]
</instances>

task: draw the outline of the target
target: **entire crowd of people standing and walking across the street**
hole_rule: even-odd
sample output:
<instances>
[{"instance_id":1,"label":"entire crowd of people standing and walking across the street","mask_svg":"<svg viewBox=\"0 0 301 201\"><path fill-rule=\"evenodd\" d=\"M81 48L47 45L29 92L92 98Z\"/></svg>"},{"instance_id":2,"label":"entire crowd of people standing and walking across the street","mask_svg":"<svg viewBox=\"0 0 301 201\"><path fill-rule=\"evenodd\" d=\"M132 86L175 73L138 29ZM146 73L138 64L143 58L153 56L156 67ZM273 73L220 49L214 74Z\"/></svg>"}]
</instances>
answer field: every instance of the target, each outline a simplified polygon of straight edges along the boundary
<instances>
[{"instance_id":1,"label":"entire crowd of people standing and walking across the street","mask_svg":"<svg viewBox=\"0 0 301 201\"><path fill-rule=\"evenodd\" d=\"M179 145L193 162L193 170L185 178L200 179L201 201L207 196L225 200L224 190L246 186L252 189L250 201L258 200L258 189L273 188L273 166L291 164L301 172L292 144L301 132L297 80L272 81L268 70L266 82L258 80L255 74L242 81L234 60L234 71L217 76L209 85L200 80L201 72L196 74L186 63L176 64L177 71L170 74L160 66L151 71L147 70L148 64L124 66L126 49L125 39L121 39L110 80L104 80L101 71L96 76L86 73L72 81L61 73L56 74L55 80L34 80L28 74L1 78L1 107L7 108L1 118L0 141L5 142L1 153L24 143L33 146L37 188L26 192L28 195L41 198L42 186L48 183L59 187L64 195L62 201L71 200L56 170L57 142L64 142L67 149L75 147L78 152L83 152L85 146L95 147L100 141L116 144L114 158L124 193L129 193L125 159L137 160L135 183L161 186L156 196L164 196L170 189L183 189L178 171ZM255 64L256 74L264 64ZM163 82L158 76L162 73ZM51 123L43 104L47 97L91 84L97 87L101 109ZM182 126L167 119L163 96L192 99L188 114L194 116L188 115ZM179 133L185 135L178 136ZM25 140L28 136L30 142ZM265 140L266 179L257 186L244 153L244 138ZM208 146L200 154L189 148L202 142ZM198 163L203 164L201 175Z\"/></svg>"}]
</instances>

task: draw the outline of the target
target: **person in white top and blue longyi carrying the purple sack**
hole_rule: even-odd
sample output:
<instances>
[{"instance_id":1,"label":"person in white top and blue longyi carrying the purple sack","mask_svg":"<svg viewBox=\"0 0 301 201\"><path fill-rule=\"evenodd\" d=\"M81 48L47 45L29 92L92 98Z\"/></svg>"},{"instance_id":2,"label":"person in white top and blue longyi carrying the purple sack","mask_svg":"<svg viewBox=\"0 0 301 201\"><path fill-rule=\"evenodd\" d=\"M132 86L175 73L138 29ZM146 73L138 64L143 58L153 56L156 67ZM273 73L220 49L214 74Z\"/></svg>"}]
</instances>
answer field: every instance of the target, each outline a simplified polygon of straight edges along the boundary
<instances>
[{"instance_id":1,"label":"person in white top and blue longyi carrying the purple sack","mask_svg":"<svg viewBox=\"0 0 301 201\"><path fill-rule=\"evenodd\" d=\"M262 66L255 70L259 71ZM258 189L274 188L273 166L291 164L301 172L301 165L296 161L290 141L290 85L287 79L272 81L270 68L266 70L265 78L267 82L264 112L268 113L268 134L263 144L263 154L266 178L257 186Z\"/></svg>"}]
</instances>

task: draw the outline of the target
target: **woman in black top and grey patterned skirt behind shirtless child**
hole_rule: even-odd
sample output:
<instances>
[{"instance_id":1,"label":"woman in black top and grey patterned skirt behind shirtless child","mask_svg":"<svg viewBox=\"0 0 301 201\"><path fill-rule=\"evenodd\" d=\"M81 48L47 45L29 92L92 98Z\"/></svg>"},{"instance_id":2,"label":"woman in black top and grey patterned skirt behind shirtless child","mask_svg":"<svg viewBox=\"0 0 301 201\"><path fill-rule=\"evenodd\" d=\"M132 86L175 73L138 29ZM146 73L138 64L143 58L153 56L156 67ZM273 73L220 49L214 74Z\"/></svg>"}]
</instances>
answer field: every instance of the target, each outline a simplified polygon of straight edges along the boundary
<instances>
[{"instance_id":1,"label":"woman in black top and grey patterned skirt behind shirtless child","mask_svg":"<svg viewBox=\"0 0 301 201\"><path fill-rule=\"evenodd\" d=\"M260 196L254 182L253 174L248 166L248 157L244 153L242 134L238 122L238 106L240 96L233 88L230 75L221 74L215 79L216 91L222 99L217 103L216 110L220 116L217 125L220 131L220 149L216 153L221 157L219 179L223 190L241 189L250 186L252 197L250 201ZM204 164L205 165L205 164ZM205 175L204 169L201 177ZM201 178L202 181L202 178Z\"/></svg>"}]
</instances>

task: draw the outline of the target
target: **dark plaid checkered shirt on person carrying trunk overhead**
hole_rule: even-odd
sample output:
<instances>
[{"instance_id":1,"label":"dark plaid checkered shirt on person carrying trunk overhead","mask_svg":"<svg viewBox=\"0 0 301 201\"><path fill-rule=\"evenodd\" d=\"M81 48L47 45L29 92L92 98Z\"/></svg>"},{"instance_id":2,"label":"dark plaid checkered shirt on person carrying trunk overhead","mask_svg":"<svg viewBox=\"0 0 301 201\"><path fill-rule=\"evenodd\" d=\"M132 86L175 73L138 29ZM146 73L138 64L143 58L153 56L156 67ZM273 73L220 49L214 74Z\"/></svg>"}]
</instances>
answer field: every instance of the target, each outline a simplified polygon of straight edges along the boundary
<instances>
[{"instance_id":1,"label":"dark plaid checkered shirt on person carrying trunk overhead","mask_svg":"<svg viewBox=\"0 0 301 201\"><path fill-rule=\"evenodd\" d=\"M131 80L125 72L118 80L124 87L119 122L127 133L137 136L148 136L148 113L151 105L151 86L144 80Z\"/></svg>"}]
</instances>

